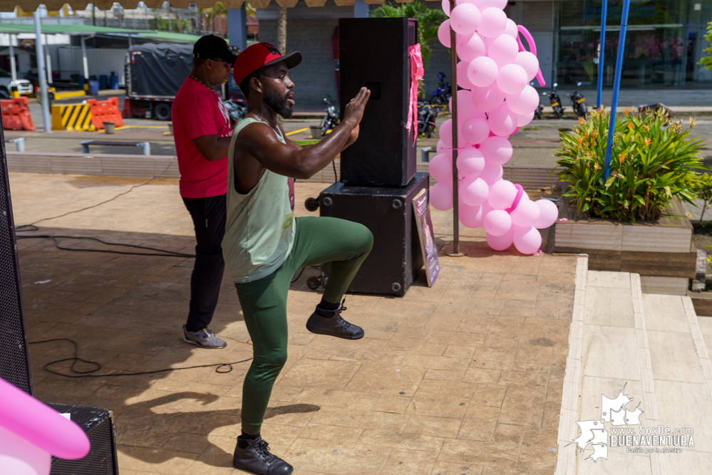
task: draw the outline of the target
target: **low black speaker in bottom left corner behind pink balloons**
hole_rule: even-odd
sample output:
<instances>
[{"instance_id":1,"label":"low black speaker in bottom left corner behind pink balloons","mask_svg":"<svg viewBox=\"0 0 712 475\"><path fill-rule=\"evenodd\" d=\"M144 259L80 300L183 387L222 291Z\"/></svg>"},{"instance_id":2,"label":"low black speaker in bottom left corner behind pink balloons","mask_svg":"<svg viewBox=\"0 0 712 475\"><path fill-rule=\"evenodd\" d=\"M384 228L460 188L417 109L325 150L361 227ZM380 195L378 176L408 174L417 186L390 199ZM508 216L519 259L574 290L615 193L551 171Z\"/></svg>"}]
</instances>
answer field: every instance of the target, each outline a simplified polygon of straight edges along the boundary
<instances>
[{"instance_id":1,"label":"low black speaker in bottom left corner behind pink balloons","mask_svg":"<svg viewBox=\"0 0 712 475\"><path fill-rule=\"evenodd\" d=\"M83 459L52 457L50 475L118 475L116 437L112 412L98 407L47 404L62 413L70 413L89 437L91 450Z\"/></svg>"}]
</instances>

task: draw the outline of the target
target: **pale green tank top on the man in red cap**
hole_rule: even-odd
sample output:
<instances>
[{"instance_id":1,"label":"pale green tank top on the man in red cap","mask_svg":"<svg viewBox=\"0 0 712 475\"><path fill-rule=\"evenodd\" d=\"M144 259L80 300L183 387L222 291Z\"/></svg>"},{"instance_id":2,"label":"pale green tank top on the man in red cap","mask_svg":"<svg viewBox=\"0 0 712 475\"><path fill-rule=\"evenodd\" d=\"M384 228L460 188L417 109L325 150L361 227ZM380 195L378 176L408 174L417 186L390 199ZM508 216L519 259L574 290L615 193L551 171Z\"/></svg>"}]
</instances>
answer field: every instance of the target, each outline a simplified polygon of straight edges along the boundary
<instances>
[{"instance_id":1,"label":"pale green tank top on the man in red cap","mask_svg":"<svg viewBox=\"0 0 712 475\"><path fill-rule=\"evenodd\" d=\"M294 179L265 169L249 193L235 189L235 143L239 132L253 122L261 121L247 118L237 124L227 155L227 222L222 254L234 283L257 281L277 271L294 243ZM287 143L279 132L277 138Z\"/></svg>"}]
</instances>

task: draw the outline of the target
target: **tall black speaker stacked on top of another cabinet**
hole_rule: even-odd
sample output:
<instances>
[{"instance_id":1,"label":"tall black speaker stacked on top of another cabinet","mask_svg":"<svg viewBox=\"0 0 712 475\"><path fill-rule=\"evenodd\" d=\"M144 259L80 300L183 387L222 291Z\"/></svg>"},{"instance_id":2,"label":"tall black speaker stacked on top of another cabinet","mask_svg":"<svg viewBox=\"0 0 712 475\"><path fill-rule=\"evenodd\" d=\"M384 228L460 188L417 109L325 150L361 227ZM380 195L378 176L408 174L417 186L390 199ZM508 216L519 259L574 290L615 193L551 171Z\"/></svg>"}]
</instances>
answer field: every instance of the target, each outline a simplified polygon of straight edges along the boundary
<instances>
[{"instance_id":1,"label":"tall black speaker stacked on top of another cabinet","mask_svg":"<svg viewBox=\"0 0 712 475\"><path fill-rule=\"evenodd\" d=\"M341 182L347 186L405 187L416 174L417 130L408 132L406 122L408 46L418 42L417 31L416 19L339 19L342 118L359 89L371 90L358 140L341 152Z\"/></svg>"}]
</instances>

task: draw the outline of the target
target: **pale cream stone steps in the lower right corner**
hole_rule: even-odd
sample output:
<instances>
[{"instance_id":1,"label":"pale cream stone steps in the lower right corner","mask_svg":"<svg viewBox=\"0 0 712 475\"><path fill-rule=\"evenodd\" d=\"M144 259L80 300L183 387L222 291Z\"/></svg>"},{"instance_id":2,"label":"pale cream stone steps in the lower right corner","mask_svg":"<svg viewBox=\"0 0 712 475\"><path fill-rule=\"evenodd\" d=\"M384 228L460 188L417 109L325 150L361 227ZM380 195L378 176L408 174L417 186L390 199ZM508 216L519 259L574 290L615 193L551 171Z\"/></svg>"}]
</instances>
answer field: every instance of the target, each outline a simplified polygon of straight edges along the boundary
<instances>
[{"instance_id":1,"label":"pale cream stone steps in the lower right corner","mask_svg":"<svg viewBox=\"0 0 712 475\"><path fill-rule=\"evenodd\" d=\"M712 365L691 300L644 294L638 274L587 271L582 259L564 378L557 475L708 473ZM585 276L579 276L584 268ZM712 325L706 325L706 331L712 340ZM616 437L621 429L639 437L641 426L644 431L669 429L664 436L675 436L676 429L692 430L685 434L686 447L674 445L683 440L677 437L664 437L661 445L652 445L652 437L650 445Z\"/></svg>"}]
</instances>

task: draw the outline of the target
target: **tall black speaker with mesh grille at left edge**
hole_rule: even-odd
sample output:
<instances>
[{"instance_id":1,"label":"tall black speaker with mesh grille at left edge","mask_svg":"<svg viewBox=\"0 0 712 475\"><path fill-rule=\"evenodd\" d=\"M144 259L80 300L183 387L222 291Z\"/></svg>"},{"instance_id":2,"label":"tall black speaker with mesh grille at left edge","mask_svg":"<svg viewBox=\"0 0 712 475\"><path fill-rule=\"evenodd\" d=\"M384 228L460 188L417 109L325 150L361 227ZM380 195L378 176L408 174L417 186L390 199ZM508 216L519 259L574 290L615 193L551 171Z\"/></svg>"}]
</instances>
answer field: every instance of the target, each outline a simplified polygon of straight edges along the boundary
<instances>
[{"instance_id":1,"label":"tall black speaker with mesh grille at left edge","mask_svg":"<svg viewBox=\"0 0 712 475\"><path fill-rule=\"evenodd\" d=\"M0 377L32 394L22 310L20 266L7 176L5 134L0 122Z\"/></svg>"}]
</instances>

